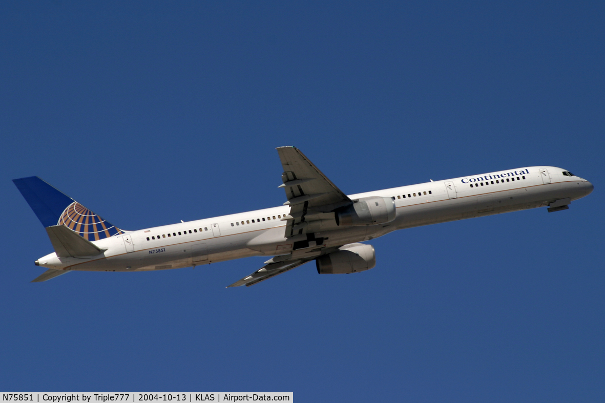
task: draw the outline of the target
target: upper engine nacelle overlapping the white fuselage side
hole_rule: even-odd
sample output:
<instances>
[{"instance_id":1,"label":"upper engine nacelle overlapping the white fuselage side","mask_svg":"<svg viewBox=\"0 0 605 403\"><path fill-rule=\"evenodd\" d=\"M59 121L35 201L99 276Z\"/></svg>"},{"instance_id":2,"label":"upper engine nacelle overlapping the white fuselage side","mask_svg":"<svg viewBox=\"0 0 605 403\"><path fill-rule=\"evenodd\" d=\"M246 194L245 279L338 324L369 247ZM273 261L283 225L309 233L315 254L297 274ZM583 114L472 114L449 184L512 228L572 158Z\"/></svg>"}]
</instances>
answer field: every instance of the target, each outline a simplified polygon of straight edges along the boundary
<instances>
[{"instance_id":1,"label":"upper engine nacelle overlapping the white fuselage side","mask_svg":"<svg viewBox=\"0 0 605 403\"><path fill-rule=\"evenodd\" d=\"M335 213L336 224L343 226L390 223L395 219L395 201L390 197L362 197Z\"/></svg>"}]
</instances>

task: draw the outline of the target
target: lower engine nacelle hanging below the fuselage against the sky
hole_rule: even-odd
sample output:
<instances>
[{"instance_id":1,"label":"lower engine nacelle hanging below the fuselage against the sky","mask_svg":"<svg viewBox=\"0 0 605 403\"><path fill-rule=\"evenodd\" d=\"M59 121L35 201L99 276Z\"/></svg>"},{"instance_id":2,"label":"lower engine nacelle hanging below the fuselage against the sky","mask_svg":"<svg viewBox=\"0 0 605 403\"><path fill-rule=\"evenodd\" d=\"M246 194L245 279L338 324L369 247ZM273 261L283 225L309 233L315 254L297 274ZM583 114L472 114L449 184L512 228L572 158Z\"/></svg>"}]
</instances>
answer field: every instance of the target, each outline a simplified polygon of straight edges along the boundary
<instances>
[{"instance_id":1,"label":"lower engine nacelle hanging below the fuselage against the sky","mask_svg":"<svg viewBox=\"0 0 605 403\"><path fill-rule=\"evenodd\" d=\"M319 274L350 274L373 269L376 266L374 247L363 243L350 243L339 251L315 259Z\"/></svg>"}]
</instances>

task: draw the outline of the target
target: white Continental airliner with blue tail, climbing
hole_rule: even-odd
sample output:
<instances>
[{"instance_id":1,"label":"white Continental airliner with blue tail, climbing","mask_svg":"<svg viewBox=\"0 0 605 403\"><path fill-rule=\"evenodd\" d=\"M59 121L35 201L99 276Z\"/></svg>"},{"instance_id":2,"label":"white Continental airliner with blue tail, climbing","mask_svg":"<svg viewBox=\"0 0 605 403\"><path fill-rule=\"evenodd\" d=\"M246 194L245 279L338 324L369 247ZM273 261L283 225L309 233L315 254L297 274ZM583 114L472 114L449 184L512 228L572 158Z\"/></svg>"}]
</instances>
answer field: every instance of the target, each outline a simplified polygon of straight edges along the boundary
<instances>
[{"instance_id":1,"label":"white Continental airliner with blue tail, climbing","mask_svg":"<svg viewBox=\"0 0 605 403\"><path fill-rule=\"evenodd\" d=\"M346 195L302 152L278 147L287 201L278 207L124 231L39 179L13 182L46 228L54 252L35 261L48 270L138 272L266 256L261 269L227 287L252 286L315 260L319 274L376 266L362 242L398 229L548 206L569 208L592 183L554 166L528 166Z\"/></svg>"}]
</instances>

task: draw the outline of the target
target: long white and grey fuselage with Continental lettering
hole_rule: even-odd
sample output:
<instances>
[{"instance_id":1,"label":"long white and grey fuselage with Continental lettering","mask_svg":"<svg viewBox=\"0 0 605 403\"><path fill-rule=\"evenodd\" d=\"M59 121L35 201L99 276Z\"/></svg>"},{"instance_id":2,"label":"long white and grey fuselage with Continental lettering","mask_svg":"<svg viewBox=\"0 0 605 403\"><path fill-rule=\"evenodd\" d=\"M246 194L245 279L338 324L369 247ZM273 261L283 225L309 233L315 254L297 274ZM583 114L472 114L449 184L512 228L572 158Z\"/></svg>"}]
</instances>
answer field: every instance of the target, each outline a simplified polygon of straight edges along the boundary
<instances>
[{"instance_id":1,"label":"long white and grey fuselage with Continental lettering","mask_svg":"<svg viewBox=\"0 0 605 403\"><path fill-rule=\"evenodd\" d=\"M367 241L397 229L547 206L564 198L576 200L592 191L586 180L562 172L552 166L532 166L350 195L353 200L394 197L395 220L372 226L338 226L334 214L326 213L324 219L312 221L307 228L315 238L323 238L323 243L312 242L296 251L294 243L307 236L285 237L286 221L281 218L289 214L290 206L280 206L126 232L94 241L106 249L98 256L57 258L53 253L38 262L39 266L62 270L139 271L258 255L292 253L304 257L317 247Z\"/></svg>"}]
</instances>

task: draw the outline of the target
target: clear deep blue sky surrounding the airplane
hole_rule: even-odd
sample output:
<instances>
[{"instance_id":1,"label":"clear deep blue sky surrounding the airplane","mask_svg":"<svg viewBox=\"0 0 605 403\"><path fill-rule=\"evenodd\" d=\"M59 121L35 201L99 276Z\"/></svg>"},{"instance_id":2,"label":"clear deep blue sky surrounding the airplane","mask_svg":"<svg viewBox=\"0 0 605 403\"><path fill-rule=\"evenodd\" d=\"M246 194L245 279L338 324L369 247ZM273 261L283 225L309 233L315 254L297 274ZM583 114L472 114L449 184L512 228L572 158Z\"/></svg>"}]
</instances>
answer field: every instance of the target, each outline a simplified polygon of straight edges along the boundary
<instances>
[{"instance_id":1,"label":"clear deep blue sky surrounding the airplane","mask_svg":"<svg viewBox=\"0 0 605 403\"><path fill-rule=\"evenodd\" d=\"M603 401L604 8L3 2L0 390ZM29 283L52 249L11 179L140 229L281 205L283 145L348 193L533 165L595 191L395 232L355 275Z\"/></svg>"}]
</instances>

